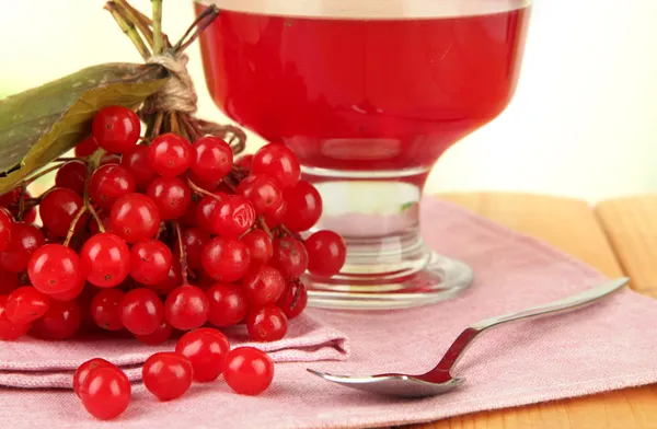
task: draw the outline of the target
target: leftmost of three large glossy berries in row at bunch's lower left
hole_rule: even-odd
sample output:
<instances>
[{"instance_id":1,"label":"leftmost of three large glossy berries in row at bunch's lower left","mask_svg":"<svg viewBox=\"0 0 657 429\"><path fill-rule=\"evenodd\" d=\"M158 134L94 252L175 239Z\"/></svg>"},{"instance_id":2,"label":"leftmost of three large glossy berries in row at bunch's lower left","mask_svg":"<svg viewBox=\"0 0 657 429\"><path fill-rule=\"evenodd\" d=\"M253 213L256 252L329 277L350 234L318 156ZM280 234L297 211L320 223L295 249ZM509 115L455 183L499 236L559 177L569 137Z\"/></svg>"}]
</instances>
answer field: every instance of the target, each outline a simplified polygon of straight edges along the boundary
<instances>
[{"instance_id":1,"label":"leftmost of three large glossy berries in row at bunch's lower left","mask_svg":"<svg viewBox=\"0 0 657 429\"><path fill-rule=\"evenodd\" d=\"M46 244L32 254L27 266L30 281L43 293L61 293L84 281L80 258L70 247Z\"/></svg>"}]
</instances>

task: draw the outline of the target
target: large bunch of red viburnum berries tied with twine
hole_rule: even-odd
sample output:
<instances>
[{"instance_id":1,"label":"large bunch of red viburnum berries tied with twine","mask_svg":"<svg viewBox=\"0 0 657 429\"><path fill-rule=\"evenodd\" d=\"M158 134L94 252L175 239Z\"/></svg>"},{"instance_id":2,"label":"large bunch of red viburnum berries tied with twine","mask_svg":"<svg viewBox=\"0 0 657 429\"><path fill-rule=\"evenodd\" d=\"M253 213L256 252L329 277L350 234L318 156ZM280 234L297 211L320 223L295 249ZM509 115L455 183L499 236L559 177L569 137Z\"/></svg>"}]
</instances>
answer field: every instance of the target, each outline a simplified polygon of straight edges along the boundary
<instances>
[{"instance_id":1,"label":"large bunch of red viburnum berries tied with twine","mask_svg":"<svg viewBox=\"0 0 657 429\"><path fill-rule=\"evenodd\" d=\"M212 136L141 138L138 116L111 106L55 169L44 195L0 197L0 339L91 325L161 344L174 329L245 323L253 339L277 340L306 306L301 275L331 277L345 262L336 233L302 240L322 199L284 144L233 161Z\"/></svg>"}]
</instances>

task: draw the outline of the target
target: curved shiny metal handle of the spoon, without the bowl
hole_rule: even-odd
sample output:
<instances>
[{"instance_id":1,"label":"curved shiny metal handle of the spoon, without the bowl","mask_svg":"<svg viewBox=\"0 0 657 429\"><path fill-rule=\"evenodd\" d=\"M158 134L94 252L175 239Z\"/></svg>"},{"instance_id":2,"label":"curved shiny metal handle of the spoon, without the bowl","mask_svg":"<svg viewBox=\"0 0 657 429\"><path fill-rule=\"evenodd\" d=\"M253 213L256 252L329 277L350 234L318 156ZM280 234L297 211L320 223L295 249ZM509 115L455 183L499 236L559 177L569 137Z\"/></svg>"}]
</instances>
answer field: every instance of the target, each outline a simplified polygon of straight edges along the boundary
<instances>
[{"instance_id":1,"label":"curved shiny metal handle of the spoon, without the bowl","mask_svg":"<svg viewBox=\"0 0 657 429\"><path fill-rule=\"evenodd\" d=\"M601 286L585 290L584 292L579 292L568 298L553 301L548 304L532 306L531 309L522 310L519 312L504 314L502 316L495 316L477 322L474 325L468 327L465 331L463 331L461 335L459 335L459 337L447 350L445 357L440 360L438 366L430 372L449 371L454 364L457 364L459 359L463 356L468 347L472 345L472 343L479 336L479 334L488 328L496 327L508 322L562 314L573 310L585 308L601 300L602 298L609 297L610 294L625 286L629 281L630 279L627 277L622 277L615 280L609 280L602 283Z\"/></svg>"}]
</instances>

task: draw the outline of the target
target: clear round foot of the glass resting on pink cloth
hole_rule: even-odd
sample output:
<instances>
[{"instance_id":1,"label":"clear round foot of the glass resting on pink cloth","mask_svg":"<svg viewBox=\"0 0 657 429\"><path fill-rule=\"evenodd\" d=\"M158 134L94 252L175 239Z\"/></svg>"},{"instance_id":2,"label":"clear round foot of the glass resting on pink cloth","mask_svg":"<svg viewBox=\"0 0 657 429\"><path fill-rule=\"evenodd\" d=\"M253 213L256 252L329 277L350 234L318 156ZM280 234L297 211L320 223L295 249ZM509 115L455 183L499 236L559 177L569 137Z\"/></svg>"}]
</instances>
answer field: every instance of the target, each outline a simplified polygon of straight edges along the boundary
<instances>
[{"instance_id":1,"label":"clear round foot of the glass resting on pink cloth","mask_svg":"<svg viewBox=\"0 0 657 429\"><path fill-rule=\"evenodd\" d=\"M468 265L435 252L427 256L424 268L399 276L308 276L308 304L342 310L407 309L451 299L472 285L474 273Z\"/></svg>"}]
</instances>

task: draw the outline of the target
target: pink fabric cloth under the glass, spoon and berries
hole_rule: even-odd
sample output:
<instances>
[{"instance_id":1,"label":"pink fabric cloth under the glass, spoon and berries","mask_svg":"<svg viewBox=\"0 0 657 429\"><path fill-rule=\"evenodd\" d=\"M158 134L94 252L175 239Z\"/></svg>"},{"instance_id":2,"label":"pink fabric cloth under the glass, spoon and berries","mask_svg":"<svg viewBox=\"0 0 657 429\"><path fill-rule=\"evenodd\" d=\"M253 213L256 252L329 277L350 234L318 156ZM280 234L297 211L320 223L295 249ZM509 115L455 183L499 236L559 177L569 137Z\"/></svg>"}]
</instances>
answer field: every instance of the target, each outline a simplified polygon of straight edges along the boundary
<instances>
[{"instance_id":1,"label":"pink fabric cloth under the glass, spoon and berries","mask_svg":"<svg viewBox=\"0 0 657 429\"><path fill-rule=\"evenodd\" d=\"M233 394L218 381L195 384L184 397L159 403L136 384L128 410L112 424L94 421L69 391L4 389L0 390L0 421L15 429L73 425L158 429L370 427L657 382L657 301L631 290L578 312L484 334L456 369L466 383L442 396L415 401L372 396L307 373L308 367L347 374L424 371L466 325L550 302L604 280L596 270L542 243L451 205L428 199L422 213L428 242L472 265L475 283L458 299L414 310L379 314L309 311L319 329L331 326L334 333L346 335L350 353L345 360L279 363L273 385L257 397ZM345 357L345 340L336 337L342 338L336 335L320 341L335 347L327 352L333 359ZM27 362L38 363L44 357L53 369L62 368L57 364L62 357L68 368L79 356L82 359L82 352L85 357L99 351L116 358L122 353L112 344L99 344L96 350L74 343L1 346L2 368L13 369L14 381L28 376L27 372L16 373L18 369L24 370ZM12 347L11 352L5 351L8 347ZM126 350L126 346L120 347ZM298 349L292 340L285 347ZM134 343L130 350L132 357L146 351ZM312 353L307 350L302 356L304 360L324 359ZM292 360L299 357L296 351L288 356ZM126 362L138 360L126 358Z\"/></svg>"}]
</instances>

